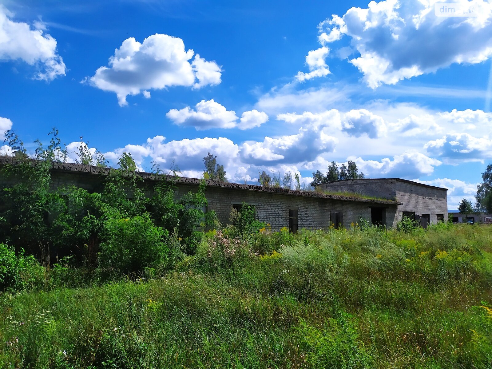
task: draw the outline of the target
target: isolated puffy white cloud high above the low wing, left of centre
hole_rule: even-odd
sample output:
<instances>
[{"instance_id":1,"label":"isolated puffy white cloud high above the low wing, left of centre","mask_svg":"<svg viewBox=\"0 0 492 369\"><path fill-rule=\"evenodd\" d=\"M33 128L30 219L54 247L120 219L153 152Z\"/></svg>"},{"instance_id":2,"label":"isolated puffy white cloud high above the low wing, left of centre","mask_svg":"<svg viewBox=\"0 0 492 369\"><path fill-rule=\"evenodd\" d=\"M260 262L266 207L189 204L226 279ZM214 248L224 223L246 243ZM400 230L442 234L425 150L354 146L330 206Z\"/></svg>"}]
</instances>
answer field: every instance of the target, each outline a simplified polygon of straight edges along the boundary
<instances>
[{"instance_id":1,"label":"isolated puffy white cloud high above the low wing, left of centre","mask_svg":"<svg viewBox=\"0 0 492 369\"><path fill-rule=\"evenodd\" d=\"M109 58L109 67L99 67L86 78L92 86L115 92L120 106L127 105L126 96L143 90L160 90L171 86L200 88L220 83L221 68L185 50L179 37L154 34L142 43L134 37L123 41ZM145 97L148 94L144 94Z\"/></svg>"}]
</instances>

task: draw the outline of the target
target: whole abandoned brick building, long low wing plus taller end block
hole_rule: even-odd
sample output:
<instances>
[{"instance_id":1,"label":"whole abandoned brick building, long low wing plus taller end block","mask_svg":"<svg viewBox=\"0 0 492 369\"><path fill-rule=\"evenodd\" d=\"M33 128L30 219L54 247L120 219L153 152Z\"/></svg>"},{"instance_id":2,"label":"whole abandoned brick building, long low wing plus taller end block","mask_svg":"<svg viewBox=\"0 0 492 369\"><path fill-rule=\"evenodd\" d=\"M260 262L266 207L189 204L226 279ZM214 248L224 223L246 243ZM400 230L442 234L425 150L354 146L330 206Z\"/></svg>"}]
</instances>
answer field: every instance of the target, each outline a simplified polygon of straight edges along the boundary
<instances>
[{"instance_id":1,"label":"whole abandoned brick building, long low wing plus taller end block","mask_svg":"<svg viewBox=\"0 0 492 369\"><path fill-rule=\"evenodd\" d=\"M11 157L0 157L0 166L12 163ZM52 163L52 187L76 185L87 190L98 186L109 173L108 168L71 163ZM143 185L152 191L156 181L171 179L153 173L137 173ZM176 195L196 190L201 180L173 178ZM350 227L363 217L374 224L396 227L402 215L423 218L423 225L447 219L446 188L419 184L398 178L345 180L321 184L320 191L296 191L251 184L224 183L207 180L207 211L214 210L218 220L227 223L231 207L239 209L243 202L254 205L256 219L270 223L273 230L288 227L323 229L334 225ZM9 185L3 183L2 185ZM353 195L330 194L348 192ZM378 199L364 197L372 196Z\"/></svg>"}]
</instances>

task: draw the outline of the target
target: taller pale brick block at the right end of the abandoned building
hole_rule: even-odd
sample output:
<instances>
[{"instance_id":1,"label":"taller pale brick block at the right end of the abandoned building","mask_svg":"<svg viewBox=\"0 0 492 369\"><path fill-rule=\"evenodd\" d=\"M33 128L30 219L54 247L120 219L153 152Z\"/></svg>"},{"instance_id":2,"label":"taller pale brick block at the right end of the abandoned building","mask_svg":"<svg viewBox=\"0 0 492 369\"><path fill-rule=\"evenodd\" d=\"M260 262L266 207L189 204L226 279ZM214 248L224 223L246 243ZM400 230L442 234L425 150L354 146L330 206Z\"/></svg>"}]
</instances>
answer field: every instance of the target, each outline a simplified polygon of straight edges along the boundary
<instances>
[{"instance_id":1,"label":"taller pale brick block at the right end of the abandoned building","mask_svg":"<svg viewBox=\"0 0 492 369\"><path fill-rule=\"evenodd\" d=\"M414 217L424 227L448 219L447 188L400 178L342 180L319 187L327 193L343 191L396 200L400 204L395 216L388 217L389 210L385 206L371 207L372 223L383 222L388 228L396 227L403 215Z\"/></svg>"}]
</instances>

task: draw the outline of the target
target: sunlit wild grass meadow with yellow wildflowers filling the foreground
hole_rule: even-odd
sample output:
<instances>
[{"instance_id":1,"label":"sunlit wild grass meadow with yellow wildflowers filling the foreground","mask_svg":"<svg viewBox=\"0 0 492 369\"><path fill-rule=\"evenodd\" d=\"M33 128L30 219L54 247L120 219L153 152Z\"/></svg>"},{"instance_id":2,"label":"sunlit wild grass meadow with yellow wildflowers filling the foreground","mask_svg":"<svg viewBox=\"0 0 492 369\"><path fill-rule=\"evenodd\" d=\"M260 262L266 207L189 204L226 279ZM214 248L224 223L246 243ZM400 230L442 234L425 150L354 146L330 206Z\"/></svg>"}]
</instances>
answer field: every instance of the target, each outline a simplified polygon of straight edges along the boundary
<instances>
[{"instance_id":1,"label":"sunlit wild grass meadow with yellow wildflowers filling the foreground","mask_svg":"<svg viewBox=\"0 0 492 369\"><path fill-rule=\"evenodd\" d=\"M226 228L124 278L20 257L1 368L492 368L491 231Z\"/></svg>"}]
</instances>

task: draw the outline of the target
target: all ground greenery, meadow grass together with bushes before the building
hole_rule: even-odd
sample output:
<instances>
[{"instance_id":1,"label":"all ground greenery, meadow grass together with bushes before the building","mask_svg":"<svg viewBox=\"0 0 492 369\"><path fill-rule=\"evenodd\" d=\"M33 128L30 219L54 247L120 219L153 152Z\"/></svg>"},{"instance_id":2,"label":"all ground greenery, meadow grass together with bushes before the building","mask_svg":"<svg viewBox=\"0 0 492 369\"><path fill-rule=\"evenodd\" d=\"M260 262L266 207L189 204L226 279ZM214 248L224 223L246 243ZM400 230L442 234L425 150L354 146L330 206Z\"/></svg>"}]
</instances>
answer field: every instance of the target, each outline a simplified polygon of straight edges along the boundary
<instances>
[{"instance_id":1,"label":"all ground greenery, meadow grass together with bushes before the building","mask_svg":"<svg viewBox=\"0 0 492 369\"><path fill-rule=\"evenodd\" d=\"M292 234L246 203L221 225L205 182L150 191L126 154L93 192L52 189L17 141L0 173L15 179L0 199L1 369L492 368L488 226Z\"/></svg>"}]
</instances>

